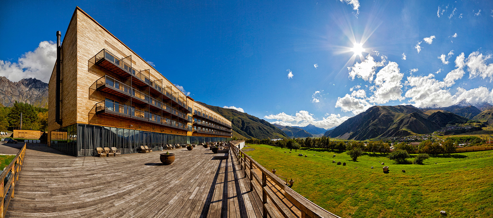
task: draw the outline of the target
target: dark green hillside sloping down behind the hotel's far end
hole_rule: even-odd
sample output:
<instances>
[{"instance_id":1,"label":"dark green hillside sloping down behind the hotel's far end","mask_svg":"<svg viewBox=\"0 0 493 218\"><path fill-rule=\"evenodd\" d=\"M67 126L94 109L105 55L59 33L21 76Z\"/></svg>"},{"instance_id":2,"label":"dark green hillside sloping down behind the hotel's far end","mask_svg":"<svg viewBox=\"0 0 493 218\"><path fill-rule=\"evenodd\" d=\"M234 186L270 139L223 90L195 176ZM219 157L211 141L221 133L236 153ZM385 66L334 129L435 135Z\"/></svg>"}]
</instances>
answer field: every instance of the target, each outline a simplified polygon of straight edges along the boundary
<instances>
[{"instance_id":1,"label":"dark green hillside sloping down behind the hotel's far end","mask_svg":"<svg viewBox=\"0 0 493 218\"><path fill-rule=\"evenodd\" d=\"M261 120L257 117L237 111L235 109L212 106L199 101L196 102L208 107L224 118L230 120L234 131L233 136L236 136L237 138L287 138L287 135L283 131L281 131L281 129L277 128L276 126L270 124L265 120ZM235 133L238 135L236 135Z\"/></svg>"}]
</instances>

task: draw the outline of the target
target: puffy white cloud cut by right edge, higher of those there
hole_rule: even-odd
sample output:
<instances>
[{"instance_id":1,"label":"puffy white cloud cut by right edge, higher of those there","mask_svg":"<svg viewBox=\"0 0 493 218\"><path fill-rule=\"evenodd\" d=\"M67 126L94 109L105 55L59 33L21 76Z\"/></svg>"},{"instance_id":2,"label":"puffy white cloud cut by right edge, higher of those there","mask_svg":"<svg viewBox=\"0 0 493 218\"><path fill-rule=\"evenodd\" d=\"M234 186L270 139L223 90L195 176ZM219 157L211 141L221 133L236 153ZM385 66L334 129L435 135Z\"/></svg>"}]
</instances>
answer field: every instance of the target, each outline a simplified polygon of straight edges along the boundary
<instances>
[{"instance_id":1,"label":"puffy white cloud cut by right edge, higher of those there","mask_svg":"<svg viewBox=\"0 0 493 218\"><path fill-rule=\"evenodd\" d=\"M486 64L486 60L492 58L492 55L486 55L479 52L473 52L469 54L467 58L467 71L469 71L469 79L480 76L485 79L490 77L493 79L493 63Z\"/></svg>"}]
</instances>

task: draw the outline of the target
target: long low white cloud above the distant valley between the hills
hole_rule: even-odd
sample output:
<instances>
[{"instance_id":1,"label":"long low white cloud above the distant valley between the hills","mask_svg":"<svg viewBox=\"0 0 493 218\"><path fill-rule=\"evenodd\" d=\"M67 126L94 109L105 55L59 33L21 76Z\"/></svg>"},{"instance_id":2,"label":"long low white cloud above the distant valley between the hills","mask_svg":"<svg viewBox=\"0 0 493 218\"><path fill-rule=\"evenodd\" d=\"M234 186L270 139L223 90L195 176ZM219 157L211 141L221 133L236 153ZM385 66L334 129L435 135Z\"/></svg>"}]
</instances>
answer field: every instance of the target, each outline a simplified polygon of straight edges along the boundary
<instances>
[{"instance_id":1,"label":"long low white cloud above the distant valley between the hills","mask_svg":"<svg viewBox=\"0 0 493 218\"><path fill-rule=\"evenodd\" d=\"M320 128L329 129L342 124L344 121L350 118L347 116L341 117L340 114L325 114L325 116L327 117L323 117L322 120L317 121L313 117L313 114L310 114L308 111L299 111L296 112L294 116L287 115L286 113L282 112L277 115L271 114L264 116L264 119L277 120L271 122L271 124L288 126L306 126L312 124Z\"/></svg>"}]
</instances>

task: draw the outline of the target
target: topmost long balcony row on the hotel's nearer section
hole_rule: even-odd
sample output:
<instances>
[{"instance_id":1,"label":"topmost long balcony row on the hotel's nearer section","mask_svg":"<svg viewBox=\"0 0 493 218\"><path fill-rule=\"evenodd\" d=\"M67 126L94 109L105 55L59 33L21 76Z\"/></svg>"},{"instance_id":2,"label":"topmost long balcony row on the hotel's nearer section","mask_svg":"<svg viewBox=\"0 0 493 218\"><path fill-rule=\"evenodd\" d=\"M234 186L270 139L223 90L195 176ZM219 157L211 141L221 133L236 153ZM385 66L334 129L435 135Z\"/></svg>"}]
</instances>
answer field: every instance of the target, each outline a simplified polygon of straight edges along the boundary
<instances>
[{"instance_id":1,"label":"topmost long balcony row on the hotel's nearer section","mask_svg":"<svg viewBox=\"0 0 493 218\"><path fill-rule=\"evenodd\" d=\"M162 80L152 81L150 78L149 70L137 70L132 67L132 56L128 56L123 59L116 58L106 49L101 50L98 54L92 57L89 62L93 62L107 71L127 78L131 76L132 85L136 85L140 88L149 87L149 92L154 95L159 95L160 97L166 96L166 98L172 100L172 104L176 104L180 109L192 113L192 108L186 103L185 97L179 97L178 93L172 93L171 87L168 89L162 87ZM183 99L182 99L183 98Z\"/></svg>"}]
</instances>

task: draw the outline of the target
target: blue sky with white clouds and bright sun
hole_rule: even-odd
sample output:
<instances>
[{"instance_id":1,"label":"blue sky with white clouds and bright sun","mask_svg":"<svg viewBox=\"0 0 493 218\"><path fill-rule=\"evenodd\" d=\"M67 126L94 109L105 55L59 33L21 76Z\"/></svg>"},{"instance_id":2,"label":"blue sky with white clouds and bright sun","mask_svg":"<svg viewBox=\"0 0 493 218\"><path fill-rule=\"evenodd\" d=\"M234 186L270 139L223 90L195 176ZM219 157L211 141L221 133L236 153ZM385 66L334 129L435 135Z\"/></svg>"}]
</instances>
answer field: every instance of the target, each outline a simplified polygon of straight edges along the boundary
<instances>
[{"instance_id":1,"label":"blue sky with white clouds and bright sun","mask_svg":"<svg viewBox=\"0 0 493 218\"><path fill-rule=\"evenodd\" d=\"M492 1L143 2L2 1L0 75L47 82L77 5L194 99L269 122L493 103Z\"/></svg>"}]
</instances>

